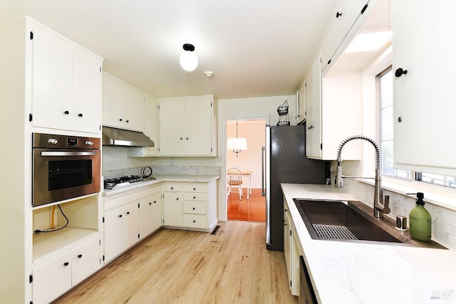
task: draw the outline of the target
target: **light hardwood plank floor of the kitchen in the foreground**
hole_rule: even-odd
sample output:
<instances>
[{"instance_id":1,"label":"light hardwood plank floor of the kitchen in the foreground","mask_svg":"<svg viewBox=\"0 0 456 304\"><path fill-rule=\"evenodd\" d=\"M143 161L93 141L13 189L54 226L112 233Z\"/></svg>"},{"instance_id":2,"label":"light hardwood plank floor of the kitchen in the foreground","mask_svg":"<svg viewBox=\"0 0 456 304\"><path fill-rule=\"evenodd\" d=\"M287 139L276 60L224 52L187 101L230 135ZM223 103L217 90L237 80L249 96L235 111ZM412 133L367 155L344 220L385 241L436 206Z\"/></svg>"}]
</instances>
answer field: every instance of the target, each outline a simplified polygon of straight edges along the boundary
<instances>
[{"instance_id":1,"label":"light hardwood plank floor of the kitchen in the foreground","mask_svg":"<svg viewBox=\"0 0 456 304\"><path fill-rule=\"evenodd\" d=\"M161 229L55 303L298 303L264 223L219 225L215 235Z\"/></svg>"}]
</instances>

